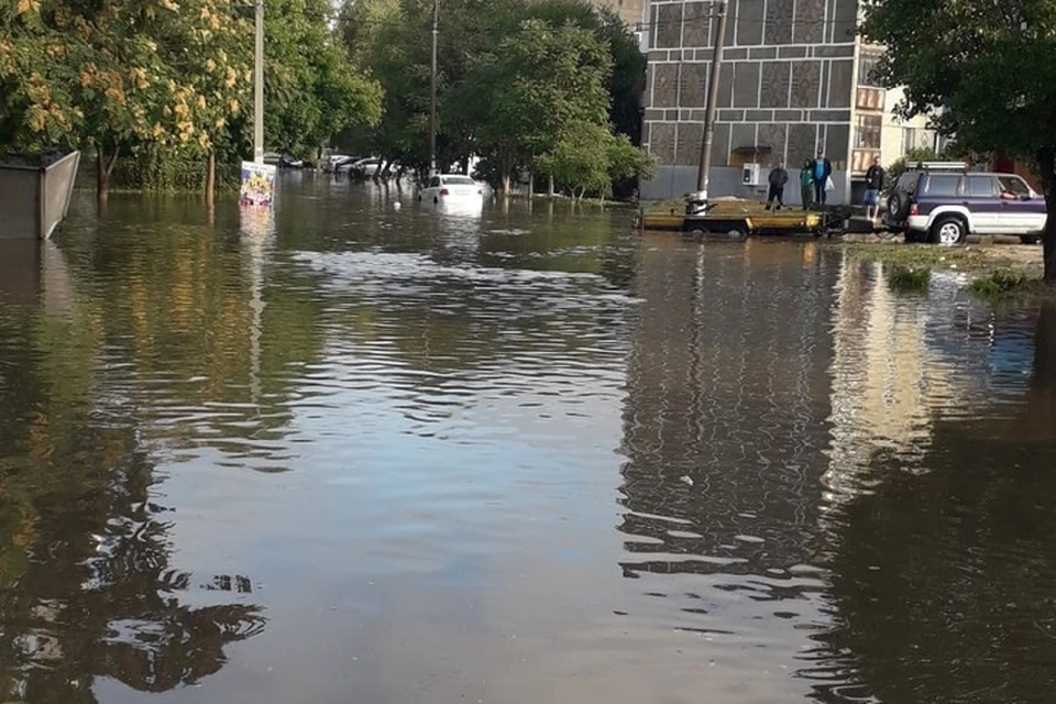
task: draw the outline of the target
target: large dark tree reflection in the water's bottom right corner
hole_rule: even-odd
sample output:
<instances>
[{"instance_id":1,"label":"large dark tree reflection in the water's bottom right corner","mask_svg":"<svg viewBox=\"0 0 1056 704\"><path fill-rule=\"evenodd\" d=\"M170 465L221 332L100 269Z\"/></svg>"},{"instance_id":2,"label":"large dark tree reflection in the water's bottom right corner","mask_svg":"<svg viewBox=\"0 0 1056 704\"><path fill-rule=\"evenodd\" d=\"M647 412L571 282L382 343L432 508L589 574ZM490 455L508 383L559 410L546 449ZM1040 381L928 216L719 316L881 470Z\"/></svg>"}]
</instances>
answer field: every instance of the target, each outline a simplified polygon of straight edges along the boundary
<instances>
[{"instance_id":1,"label":"large dark tree reflection in the water's bottom right corner","mask_svg":"<svg viewBox=\"0 0 1056 704\"><path fill-rule=\"evenodd\" d=\"M844 507L829 565L836 625L822 640L880 701L1052 701L1054 370L1047 305L1018 404L937 420L926 474L892 471Z\"/></svg>"}]
</instances>

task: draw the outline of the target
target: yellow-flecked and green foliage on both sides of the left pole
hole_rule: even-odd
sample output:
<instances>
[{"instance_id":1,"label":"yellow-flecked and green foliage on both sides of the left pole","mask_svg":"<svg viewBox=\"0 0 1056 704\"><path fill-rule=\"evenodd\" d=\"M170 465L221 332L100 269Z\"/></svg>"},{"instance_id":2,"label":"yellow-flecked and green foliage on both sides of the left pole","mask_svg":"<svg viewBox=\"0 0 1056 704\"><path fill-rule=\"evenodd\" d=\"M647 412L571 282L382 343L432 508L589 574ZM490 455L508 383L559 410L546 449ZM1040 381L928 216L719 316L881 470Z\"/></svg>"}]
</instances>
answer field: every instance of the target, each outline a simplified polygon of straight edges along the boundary
<instances>
[{"instance_id":1,"label":"yellow-flecked and green foliage on both sides of the left pole","mask_svg":"<svg viewBox=\"0 0 1056 704\"><path fill-rule=\"evenodd\" d=\"M381 88L329 26L327 0L265 12L267 146L308 154L373 125ZM252 9L237 0L13 0L0 3L0 151L246 155ZM100 179L100 187L105 179Z\"/></svg>"}]
</instances>

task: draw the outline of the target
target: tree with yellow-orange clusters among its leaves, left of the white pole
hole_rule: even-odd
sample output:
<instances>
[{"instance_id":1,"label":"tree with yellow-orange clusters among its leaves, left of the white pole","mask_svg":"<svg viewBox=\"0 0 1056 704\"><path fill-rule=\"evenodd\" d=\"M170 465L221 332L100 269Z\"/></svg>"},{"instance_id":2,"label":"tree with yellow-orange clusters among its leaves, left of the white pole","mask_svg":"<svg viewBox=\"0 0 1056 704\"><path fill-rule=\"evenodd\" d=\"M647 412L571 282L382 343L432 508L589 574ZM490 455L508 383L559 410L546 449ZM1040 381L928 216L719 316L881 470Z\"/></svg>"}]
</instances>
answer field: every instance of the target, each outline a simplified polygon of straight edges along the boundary
<instances>
[{"instance_id":1,"label":"tree with yellow-orange clusters among its leaves, left of the white pole","mask_svg":"<svg viewBox=\"0 0 1056 704\"><path fill-rule=\"evenodd\" d=\"M245 31L230 0L19 0L0 18L6 143L92 147L100 199L121 154L208 151L240 110L248 65L226 47Z\"/></svg>"}]
</instances>

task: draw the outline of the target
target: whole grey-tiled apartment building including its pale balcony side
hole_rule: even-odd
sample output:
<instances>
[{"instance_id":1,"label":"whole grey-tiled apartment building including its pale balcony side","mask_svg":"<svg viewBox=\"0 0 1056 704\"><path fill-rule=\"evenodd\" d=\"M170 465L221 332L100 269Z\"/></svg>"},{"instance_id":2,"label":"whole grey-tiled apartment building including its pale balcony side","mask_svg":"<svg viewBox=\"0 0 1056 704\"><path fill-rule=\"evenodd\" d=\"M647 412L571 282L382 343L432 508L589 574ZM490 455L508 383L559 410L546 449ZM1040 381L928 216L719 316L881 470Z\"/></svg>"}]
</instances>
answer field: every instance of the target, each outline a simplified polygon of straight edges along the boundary
<instances>
[{"instance_id":1,"label":"whole grey-tiled apartment building including its pale balcony side","mask_svg":"<svg viewBox=\"0 0 1056 704\"><path fill-rule=\"evenodd\" d=\"M770 167L784 163L794 178L824 150L836 186L829 202L847 202L875 157L889 164L908 142L934 141L924 119L894 118L899 91L876 85L882 48L857 33L861 1L729 0L712 196L757 196ZM715 3L648 0L639 26L649 59L642 143L658 163L641 197L678 197L696 187ZM744 185L746 164L760 165L763 184ZM785 198L799 202L799 188Z\"/></svg>"}]
</instances>

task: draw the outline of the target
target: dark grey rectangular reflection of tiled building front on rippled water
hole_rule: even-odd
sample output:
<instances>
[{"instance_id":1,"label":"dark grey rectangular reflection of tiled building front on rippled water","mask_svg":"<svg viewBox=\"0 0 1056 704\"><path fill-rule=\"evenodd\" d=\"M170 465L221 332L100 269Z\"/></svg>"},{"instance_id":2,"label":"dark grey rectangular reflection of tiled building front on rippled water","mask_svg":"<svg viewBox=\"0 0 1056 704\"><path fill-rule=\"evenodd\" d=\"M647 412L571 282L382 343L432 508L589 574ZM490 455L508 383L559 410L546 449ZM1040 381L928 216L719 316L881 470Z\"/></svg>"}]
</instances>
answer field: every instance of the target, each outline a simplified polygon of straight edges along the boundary
<instances>
[{"instance_id":1,"label":"dark grey rectangular reflection of tiled building front on rippled water","mask_svg":"<svg viewBox=\"0 0 1056 704\"><path fill-rule=\"evenodd\" d=\"M628 576L811 561L835 278L814 243L646 235L625 413Z\"/></svg>"}]
</instances>

